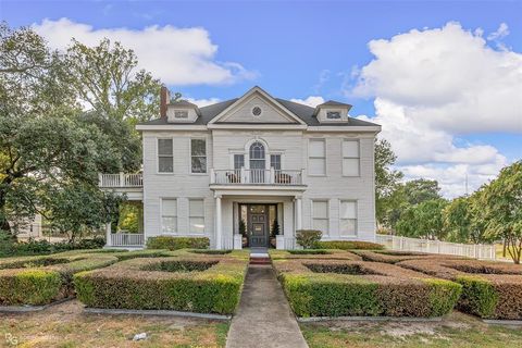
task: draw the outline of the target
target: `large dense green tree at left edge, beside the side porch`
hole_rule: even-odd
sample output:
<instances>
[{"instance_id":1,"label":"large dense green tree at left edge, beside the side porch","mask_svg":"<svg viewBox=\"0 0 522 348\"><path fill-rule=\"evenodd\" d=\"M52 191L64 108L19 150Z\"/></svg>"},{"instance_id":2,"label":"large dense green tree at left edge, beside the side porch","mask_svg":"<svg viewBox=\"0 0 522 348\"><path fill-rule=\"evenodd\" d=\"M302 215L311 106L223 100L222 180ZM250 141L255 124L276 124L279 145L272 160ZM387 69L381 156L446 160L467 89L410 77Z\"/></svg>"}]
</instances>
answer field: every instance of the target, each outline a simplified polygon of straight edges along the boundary
<instances>
[{"instance_id":1,"label":"large dense green tree at left edge, beside the side porch","mask_svg":"<svg viewBox=\"0 0 522 348\"><path fill-rule=\"evenodd\" d=\"M70 62L32 29L0 25L0 229L13 236L36 213L74 234L100 226L117 199L98 172L139 167L126 122L82 111Z\"/></svg>"}]
</instances>

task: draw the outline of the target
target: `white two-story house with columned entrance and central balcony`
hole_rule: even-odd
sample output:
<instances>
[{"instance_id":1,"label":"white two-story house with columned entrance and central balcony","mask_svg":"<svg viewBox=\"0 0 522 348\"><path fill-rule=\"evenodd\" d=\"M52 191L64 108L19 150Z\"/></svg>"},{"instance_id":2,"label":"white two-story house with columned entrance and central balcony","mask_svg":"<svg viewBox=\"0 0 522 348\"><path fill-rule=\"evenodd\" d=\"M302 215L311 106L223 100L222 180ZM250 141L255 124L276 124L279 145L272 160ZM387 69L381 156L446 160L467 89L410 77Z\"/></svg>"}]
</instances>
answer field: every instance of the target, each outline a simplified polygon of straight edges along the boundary
<instances>
[{"instance_id":1,"label":"white two-story house with columned entrance and central balcony","mask_svg":"<svg viewBox=\"0 0 522 348\"><path fill-rule=\"evenodd\" d=\"M320 229L326 240L375 240L381 126L349 117L351 105L311 108L259 87L203 108L169 100L163 88L161 117L137 126L142 177L100 175L100 186L144 203L144 235L112 234L108 245L172 235L240 248L240 220L250 247L269 246L275 220L278 248L295 248L297 229Z\"/></svg>"}]
</instances>

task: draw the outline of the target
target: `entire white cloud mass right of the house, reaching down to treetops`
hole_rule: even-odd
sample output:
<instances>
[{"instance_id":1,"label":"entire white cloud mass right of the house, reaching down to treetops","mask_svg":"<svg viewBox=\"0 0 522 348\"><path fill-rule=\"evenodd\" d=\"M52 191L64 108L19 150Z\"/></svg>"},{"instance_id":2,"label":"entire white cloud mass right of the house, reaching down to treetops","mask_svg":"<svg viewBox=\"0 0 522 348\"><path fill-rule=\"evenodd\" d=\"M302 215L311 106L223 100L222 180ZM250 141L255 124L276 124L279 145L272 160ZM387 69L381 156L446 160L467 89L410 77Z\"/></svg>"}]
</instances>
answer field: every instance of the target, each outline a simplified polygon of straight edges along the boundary
<instances>
[{"instance_id":1,"label":"entire white cloud mass right of the house, reaching down to treetops","mask_svg":"<svg viewBox=\"0 0 522 348\"><path fill-rule=\"evenodd\" d=\"M500 25L496 37L509 33ZM437 179L446 197L464 194L509 161L489 145L461 135L522 133L522 54L493 49L482 30L460 24L372 40L375 59L363 66L350 96L374 96L376 116L407 178ZM359 116L368 120L366 116Z\"/></svg>"}]
</instances>

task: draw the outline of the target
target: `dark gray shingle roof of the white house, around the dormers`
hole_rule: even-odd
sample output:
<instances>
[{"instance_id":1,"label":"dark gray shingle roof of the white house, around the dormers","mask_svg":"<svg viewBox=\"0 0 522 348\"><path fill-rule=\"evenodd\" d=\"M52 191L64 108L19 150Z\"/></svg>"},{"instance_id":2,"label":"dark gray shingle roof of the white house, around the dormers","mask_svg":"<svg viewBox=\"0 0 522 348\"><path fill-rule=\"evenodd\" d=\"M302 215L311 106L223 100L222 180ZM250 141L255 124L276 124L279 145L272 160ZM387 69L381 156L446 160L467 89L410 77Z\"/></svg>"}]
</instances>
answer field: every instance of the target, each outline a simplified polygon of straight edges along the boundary
<instances>
[{"instance_id":1,"label":"dark gray shingle roof of the white house, around the dormers","mask_svg":"<svg viewBox=\"0 0 522 348\"><path fill-rule=\"evenodd\" d=\"M217 114L220 114L223 110L228 108L231 104L237 101L238 98L235 99L229 99L225 100L222 102L217 102L215 104L207 105L199 108L200 111L200 116L196 120L196 122L187 122L187 123L179 123L176 122L176 124L195 124L195 125L206 125L208 124L213 117L215 117ZM301 119L307 125L309 126L340 126L340 127L350 127L350 126L377 126L377 124L372 123L372 122L366 122L358 119L352 119L349 117L348 123L328 123L328 124L322 124L318 121L318 119L314 116L315 109L311 108L309 105L304 105L301 103L297 103L294 101L289 101L286 99L281 99L281 98L275 98L281 104L283 104L286 109L291 111L295 115L297 115L299 119ZM331 101L327 101L331 102ZM343 105L348 105L344 103L338 103ZM142 125L160 125L160 124L172 124L167 123L166 119L157 119L157 120L151 120L148 122L140 123Z\"/></svg>"}]
</instances>

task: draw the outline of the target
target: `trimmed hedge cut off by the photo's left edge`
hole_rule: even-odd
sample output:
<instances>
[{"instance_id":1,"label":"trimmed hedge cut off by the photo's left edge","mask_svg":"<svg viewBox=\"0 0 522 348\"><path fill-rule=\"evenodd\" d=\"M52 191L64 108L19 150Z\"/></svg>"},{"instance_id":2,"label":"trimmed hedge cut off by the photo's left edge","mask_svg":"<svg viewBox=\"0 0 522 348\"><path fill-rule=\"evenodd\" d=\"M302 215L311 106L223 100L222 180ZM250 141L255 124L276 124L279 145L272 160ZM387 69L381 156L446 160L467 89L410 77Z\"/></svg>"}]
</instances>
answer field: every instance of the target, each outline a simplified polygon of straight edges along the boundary
<instances>
[{"instance_id":1,"label":"trimmed hedge cut off by the photo's left edge","mask_svg":"<svg viewBox=\"0 0 522 348\"><path fill-rule=\"evenodd\" d=\"M74 273L108 266L110 254L75 253L0 260L0 306L46 304L74 295Z\"/></svg>"}]
</instances>

